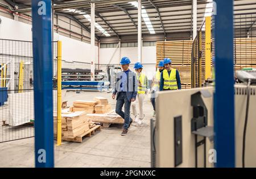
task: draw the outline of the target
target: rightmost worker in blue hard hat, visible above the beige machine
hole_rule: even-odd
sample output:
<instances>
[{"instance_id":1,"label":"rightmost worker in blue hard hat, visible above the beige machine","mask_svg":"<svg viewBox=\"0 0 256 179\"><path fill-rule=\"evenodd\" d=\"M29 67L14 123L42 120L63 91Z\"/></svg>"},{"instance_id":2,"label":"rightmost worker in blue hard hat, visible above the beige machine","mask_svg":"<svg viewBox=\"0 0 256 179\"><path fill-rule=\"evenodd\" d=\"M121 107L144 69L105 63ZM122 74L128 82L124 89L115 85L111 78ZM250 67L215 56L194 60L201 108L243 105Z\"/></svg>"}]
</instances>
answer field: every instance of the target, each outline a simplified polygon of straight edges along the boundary
<instances>
[{"instance_id":1,"label":"rightmost worker in blue hard hat, visible above the beige machine","mask_svg":"<svg viewBox=\"0 0 256 179\"><path fill-rule=\"evenodd\" d=\"M172 68L172 61L164 59L163 64L165 69L160 77L160 91L181 89L179 71Z\"/></svg>"}]
</instances>

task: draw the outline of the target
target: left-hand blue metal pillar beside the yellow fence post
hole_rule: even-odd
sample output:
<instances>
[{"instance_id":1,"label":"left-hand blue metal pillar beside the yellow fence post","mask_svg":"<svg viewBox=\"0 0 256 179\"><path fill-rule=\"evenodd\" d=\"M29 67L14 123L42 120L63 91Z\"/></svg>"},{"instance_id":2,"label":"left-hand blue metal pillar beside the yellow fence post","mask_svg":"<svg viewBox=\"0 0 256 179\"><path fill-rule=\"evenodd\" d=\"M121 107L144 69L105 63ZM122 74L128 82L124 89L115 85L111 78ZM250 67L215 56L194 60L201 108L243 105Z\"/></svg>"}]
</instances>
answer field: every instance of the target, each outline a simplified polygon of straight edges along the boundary
<instances>
[{"instance_id":1,"label":"left-hand blue metal pillar beside the yellow fence post","mask_svg":"<svg viewBox=\"0 0 256 179\"><path fill-rule=\"evenodd\" d=\"M35 166L53 167L51 0L33 0Z\"/></svg>"}]
</instances>

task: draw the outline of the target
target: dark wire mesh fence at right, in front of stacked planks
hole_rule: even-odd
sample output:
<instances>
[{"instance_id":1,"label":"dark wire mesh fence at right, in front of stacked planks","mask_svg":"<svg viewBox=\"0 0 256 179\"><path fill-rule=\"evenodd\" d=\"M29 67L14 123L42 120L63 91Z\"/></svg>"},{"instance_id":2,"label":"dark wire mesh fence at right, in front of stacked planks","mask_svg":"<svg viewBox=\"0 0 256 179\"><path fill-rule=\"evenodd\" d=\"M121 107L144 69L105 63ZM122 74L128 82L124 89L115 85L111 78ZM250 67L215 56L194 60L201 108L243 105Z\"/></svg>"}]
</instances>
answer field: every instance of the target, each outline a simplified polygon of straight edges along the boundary
<instances>
[{"instance_id":1,"label":"dark wire mesh fence at right, in front of stacked planks","mask_svg":"<svg viewBox=\"0 0 256 179\"><path fill-rule=\"evenodd\" d=\"M211 73L214 78L214 16L212 16ZM200 87L205 78L205 32L200 28L193 42L191 55L192 88ZM201 35L200 35L201 34ZM200 51L201 45L201 51ZM200 63L200 56L202 57ZM201 68L200 68L201 65ZM256 13L234 15L234 77L243 68L256 68ZM203 72L200 76L200 72ZM201 84L200 84L201 82Z\"/></svg>"}]
</instances>

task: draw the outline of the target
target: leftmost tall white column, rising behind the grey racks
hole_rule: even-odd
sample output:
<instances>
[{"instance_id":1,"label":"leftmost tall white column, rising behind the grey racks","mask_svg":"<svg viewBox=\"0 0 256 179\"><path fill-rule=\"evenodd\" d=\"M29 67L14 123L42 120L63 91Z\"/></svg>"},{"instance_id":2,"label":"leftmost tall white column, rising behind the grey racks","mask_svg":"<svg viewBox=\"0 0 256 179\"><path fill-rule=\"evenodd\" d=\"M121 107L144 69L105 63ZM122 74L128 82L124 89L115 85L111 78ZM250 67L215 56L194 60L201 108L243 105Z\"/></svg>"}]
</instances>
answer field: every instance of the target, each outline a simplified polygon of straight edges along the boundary
<instances>
[{"instance_id":1,"label":"leftmost tall white column, rising behind the grey racks","mask_svg":"<svg viewBox=\"0 0 256 179\"><path fill-rule=\"evenodd\" d=\"M90 4L90 81L94 81L95 74L95 3Z\"/></svg>"}]
</instances>

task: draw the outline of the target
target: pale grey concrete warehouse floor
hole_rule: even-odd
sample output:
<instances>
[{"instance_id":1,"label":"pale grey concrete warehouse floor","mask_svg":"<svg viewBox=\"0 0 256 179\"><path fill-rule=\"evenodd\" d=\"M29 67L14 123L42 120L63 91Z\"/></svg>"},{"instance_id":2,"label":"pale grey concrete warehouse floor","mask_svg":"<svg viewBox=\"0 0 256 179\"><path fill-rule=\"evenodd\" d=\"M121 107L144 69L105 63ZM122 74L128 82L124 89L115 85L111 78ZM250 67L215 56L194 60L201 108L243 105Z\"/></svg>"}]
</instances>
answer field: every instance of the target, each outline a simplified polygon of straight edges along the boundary
<instances>
[{"instance_id":1,"label":"pale grey concrete warehouse floor","mask_svg":"<svg viewBox=\"0 0 256 179\"><path fill-rule=\"evenodd\" d=\"M77 99L92 100L101 96L108 98L115 108L111 93L67 91L63 95L68 105ZM122 126L115 124L85 138L82 143L63 141L62 145L55 146L55 167L150 167L152 106L149 97L144 101L142 126L131 126L129 133L121 136ZM34 167L34 138L0 143L0 151L0 167Z\"/></svg>"}]
</instances>

